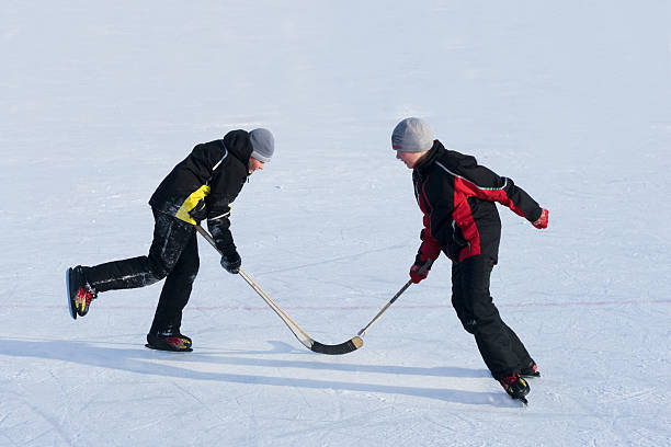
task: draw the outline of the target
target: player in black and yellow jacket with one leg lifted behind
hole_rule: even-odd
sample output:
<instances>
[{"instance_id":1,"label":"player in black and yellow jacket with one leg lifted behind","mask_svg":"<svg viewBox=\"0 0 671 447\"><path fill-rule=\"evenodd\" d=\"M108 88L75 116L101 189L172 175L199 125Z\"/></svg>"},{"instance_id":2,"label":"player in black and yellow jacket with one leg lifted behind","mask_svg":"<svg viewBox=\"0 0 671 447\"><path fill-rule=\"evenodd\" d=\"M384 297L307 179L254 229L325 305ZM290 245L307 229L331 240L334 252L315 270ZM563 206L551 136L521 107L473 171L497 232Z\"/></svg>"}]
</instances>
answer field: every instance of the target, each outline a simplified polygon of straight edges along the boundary
<instances>
[{"instance_id":1,"label":"player in black and yellow jacket with one leg lifted behind","mask_svg":"<svg viewBox=\"0 0 671 447\"><path fill-rule=\"evenodd\" d=\"M207 227L223 253L221 266L238 273L241 260L230 232L230 203L247 177L263 169L274 151L272 134L263 128L232 130L223 139L197 145L158 186L149 204L155 218L149 254L66 273L70 316L83 317L91 300L106 290L136 288L166 278L151 329L149 347L192 351L180 332L182 310L198 272L195 225Z\"/></svg>"}]
</instances>

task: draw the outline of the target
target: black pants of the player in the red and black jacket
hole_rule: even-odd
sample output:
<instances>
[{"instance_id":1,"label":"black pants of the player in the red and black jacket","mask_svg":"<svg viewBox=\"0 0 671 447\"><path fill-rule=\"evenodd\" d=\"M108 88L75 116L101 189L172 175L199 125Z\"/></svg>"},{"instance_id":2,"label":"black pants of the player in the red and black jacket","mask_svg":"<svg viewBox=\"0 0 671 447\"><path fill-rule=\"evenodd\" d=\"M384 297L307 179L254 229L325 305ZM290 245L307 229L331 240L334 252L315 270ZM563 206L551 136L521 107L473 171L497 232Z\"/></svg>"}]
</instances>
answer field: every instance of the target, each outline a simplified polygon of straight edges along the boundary
<instances>
[{"instance_id":1,"label":"black pants of the player in the red and black jacket","mask_svg":"<svg viewBox=\"0 0 671 447\"><path fill-rule=\"evenodd\" d=\"M464 329L474 334L480 355L494 379L509 377L528 366L526 348L499 316L489 295L494 261L486 254L452 264L452 306Z\"/></svg>"}]
</instances>

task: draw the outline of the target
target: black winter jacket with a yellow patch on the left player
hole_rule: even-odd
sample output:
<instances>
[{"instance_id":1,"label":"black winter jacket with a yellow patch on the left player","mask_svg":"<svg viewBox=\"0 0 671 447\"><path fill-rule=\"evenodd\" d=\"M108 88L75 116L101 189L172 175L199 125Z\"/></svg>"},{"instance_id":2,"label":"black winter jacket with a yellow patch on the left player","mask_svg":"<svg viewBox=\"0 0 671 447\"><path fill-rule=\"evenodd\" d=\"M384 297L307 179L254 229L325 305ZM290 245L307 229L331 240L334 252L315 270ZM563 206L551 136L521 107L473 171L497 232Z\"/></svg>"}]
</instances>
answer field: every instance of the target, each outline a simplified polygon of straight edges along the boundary
<instances>
[{"instance_id":1,"label":"black winter jacket with a yellow patch on the left player","mask_svg":"<svg viewBox=\"0 0 671 447\"><path fill-rule=\"evenodd\" d=\"M232 130L223 139L197 145L163 179L151 198L152 208L207 227L224 253L235 250L229 227L230 204L249 175L252 146L249 134Z\"/></svg>"}]
</instances>

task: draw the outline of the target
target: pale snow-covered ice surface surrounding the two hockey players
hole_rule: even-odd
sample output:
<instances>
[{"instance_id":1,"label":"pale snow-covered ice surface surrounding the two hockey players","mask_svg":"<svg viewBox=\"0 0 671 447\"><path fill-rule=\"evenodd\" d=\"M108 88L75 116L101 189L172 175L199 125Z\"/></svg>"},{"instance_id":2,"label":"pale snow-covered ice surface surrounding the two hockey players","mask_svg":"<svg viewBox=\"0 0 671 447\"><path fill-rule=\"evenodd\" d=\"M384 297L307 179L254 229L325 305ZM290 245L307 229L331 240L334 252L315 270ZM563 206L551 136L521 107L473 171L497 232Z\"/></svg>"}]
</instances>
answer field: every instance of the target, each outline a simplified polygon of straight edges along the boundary
<instances>
[{"instance_id":1,"label":"pale snow-covered ice surface surrounding the two hockey players","mask_svg":"<svg viewBox=\"0 0 671 447\"><path fill-rule=\"evenodd\" d=\"M667 1L15 1L0 11L0 446L671 445ZM145 254L192 147L263 126L243 266L322 343L407 280L406 116L511 176L491 290L543 377L526 409L450 305L450 262L365 345L305 349L201 240L191 354L144 347L161 284L73 321L64 272Z\"/></svg>"}]
</instances>

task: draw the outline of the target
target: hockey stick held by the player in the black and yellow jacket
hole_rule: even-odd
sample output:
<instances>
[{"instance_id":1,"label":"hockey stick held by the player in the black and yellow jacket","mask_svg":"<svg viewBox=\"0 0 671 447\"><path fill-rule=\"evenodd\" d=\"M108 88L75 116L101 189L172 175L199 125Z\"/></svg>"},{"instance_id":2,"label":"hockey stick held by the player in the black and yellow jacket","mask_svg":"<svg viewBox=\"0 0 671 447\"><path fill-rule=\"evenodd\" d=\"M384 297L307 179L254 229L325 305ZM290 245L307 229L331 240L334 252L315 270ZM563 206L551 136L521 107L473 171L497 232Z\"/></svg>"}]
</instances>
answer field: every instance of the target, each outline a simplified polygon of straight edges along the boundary
<instances>
[{"instance_id":1,"label":"hockey stick held by the player in the black and yellow jacket","mask_svg":"<svg viewBox=\"0 0 671 447\"><path fill-rule=\"evenodd\" d=\"M195 227L201 236L203 236L203 238L205 238L205 240L209 242L209 244L214 247L217 252L219 252L219 249L217 248L212 236L209 236L209 233L200 225L196 224ZM219 252L219 254L221 254L221 252ZM273 311L277 314L277 317L280 317L280 319L282 319L289 331L292 331L294 336L296 336L296 339L298 339L298 341L308 349L319 354L340 355L351 353L352 351L356 351L363 346L363 340L361 340L360 336L354 336L346 342L337 345L326 345L312 340L312 337L306 334L305 331L300 329L300 326L298 326L298 324L296 324L294 320L292 320L286 312L282 310L282 308L280 308L280 306L277 306L275 301L273 301L271 297L269 297L268 294L261 289L261 287L259 287L257 283L254 283L247 272L244 272L242 268L239 268L238 272L240 276L242 276L242 279L244 279L244 282L249 284L249 286L253 288L261 298L263 298L265 303L273 309Z\"/></svg>"}]
</instances>

